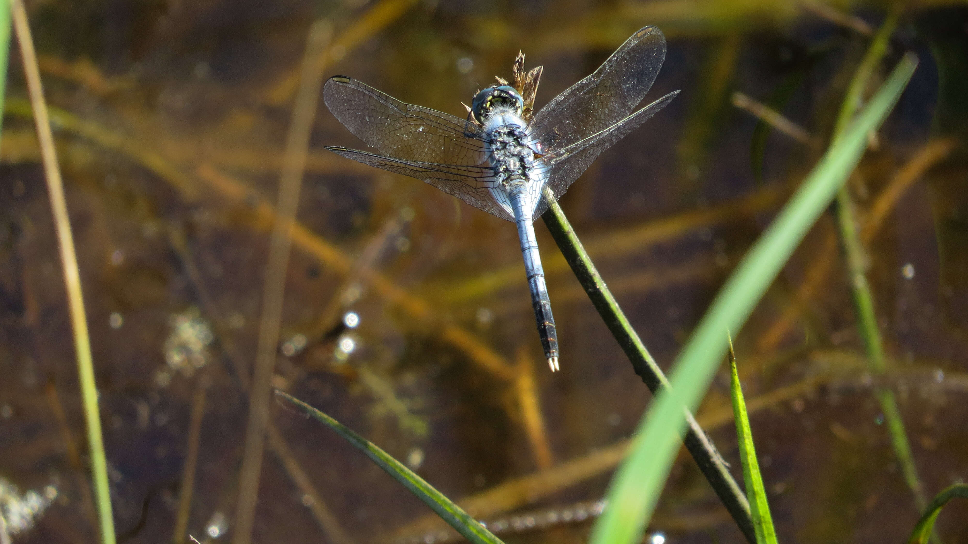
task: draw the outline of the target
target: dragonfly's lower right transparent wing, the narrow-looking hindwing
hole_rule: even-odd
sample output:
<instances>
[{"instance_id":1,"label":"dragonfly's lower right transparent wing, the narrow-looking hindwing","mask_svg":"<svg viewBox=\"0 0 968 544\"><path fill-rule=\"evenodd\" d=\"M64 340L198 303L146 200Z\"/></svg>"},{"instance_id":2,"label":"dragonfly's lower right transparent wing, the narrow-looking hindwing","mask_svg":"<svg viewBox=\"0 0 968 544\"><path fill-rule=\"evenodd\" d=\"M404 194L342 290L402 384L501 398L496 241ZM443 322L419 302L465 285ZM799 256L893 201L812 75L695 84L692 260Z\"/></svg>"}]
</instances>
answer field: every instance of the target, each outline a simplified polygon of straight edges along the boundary
<instances>
[{"instance_id":1,"label":"dragonfly's lower right transparent wing, the narrow-looking hindwing","mask_svg":"<svg viewBox=\"0 0 968 544\"><path fill-rule=\"evenodd\" d=\"M561 195L564 195L568 186L578 179L578 176L582 175L582 172L594 162L602 151L639 128L656 111L672 102L672 99L676 98L678 94L679 91L671 92L604 131L543 156L540 161L548 168L548 182L545 186L550 195L548 193L541 195L541 199L534 209L533 219L537 220L548 209L551 202L557 201ZM548 200L549 196L552 197L552 200Z\"/></svg>"}]
</instances>

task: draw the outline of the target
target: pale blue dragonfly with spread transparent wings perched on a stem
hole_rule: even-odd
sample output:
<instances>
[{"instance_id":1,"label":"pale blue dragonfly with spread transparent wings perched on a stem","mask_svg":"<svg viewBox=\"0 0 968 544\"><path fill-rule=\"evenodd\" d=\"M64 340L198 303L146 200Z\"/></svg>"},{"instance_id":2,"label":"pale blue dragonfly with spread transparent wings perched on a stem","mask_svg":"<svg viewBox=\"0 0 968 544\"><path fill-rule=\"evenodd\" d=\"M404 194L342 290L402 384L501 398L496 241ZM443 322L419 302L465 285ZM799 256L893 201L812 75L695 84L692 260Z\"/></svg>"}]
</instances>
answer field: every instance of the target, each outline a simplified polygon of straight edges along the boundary
<instances>
[{"instance_id":1,"label":"pale blue dragonfly with spread transparent wings perched on a stem","mask_svg":"<svg viewBox=\"0 0 968 544\"><path fill-rule=\"evenodd\" d=\"M396 100L352 77L333 76L323 102L350 133L376 152L327 146L358 161L420 179L471 206L513 222L545 358L560 369L558 333L538 255L533 222L567 191L598 155L668 105L679 91L635 110L665 60L662 32L647 26L625 41L590 76L537 112L542 67L524 71L515 60L514 84L475 93L462 119Z\"/></svg>"}]
</instances>

